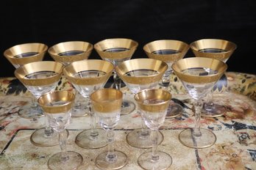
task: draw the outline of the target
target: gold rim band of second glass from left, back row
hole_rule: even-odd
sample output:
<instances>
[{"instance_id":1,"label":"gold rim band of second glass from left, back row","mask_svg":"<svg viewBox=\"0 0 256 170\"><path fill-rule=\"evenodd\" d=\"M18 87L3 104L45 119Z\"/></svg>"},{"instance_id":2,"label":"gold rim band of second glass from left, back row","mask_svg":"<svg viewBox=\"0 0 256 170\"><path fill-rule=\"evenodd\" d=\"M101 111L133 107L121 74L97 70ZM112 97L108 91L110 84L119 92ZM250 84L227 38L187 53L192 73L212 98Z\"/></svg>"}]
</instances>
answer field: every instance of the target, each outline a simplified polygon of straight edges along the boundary
<instances>
[{"instance_id":1,"label":"gold rim band of second glass from left, back row","mask_svg":"<svg viewBox=\"0 0 256 170\"><path fill-rule=\"evenodd\" d=\"M76 55L60 55L68 51L79 51ZM49 48L48 53L56 62L71 63L83 59L88 59L90 53L93 51L93 45L90 42L83 41L68 41L60 42Z\"/></svg>"}]
</instances>

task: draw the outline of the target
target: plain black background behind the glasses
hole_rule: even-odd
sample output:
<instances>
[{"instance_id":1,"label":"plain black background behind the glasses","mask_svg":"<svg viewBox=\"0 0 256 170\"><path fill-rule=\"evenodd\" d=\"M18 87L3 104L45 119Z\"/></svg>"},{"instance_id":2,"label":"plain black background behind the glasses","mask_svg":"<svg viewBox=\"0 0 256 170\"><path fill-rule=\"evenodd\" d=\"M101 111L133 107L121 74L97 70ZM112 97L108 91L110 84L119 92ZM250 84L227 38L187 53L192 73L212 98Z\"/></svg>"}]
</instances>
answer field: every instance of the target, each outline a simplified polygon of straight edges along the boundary
<instances>
[{"instance_id":1,"label":"plain black background behind the glasses","mask_svg":"<svg viewBox=\"0 0 256 170\"><path fill-rule=\"evenodd\" d=\"M153 40L203 38L235 42L228 71L256 74L254 0L1 1L0 77L13 76L4 50L26 42L82 40L92 44L113 37L138 41L132 58L146 58L143 45ZM193 56L191 51L187 55ZM93 51L89 59L100 59ZM47 53L44 60L52 60Z\"/></svg>"}]
</instances>

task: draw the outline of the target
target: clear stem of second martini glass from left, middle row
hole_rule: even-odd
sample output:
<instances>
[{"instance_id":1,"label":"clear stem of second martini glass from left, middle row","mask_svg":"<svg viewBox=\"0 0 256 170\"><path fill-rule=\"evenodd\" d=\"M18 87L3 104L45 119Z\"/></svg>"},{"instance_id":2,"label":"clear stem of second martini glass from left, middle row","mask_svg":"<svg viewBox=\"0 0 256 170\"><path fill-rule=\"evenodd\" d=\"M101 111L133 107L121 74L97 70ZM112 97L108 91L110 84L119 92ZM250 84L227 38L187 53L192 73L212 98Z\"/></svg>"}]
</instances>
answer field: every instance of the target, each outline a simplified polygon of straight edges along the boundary
<instances>
[{"instance_id":1,"label":"clear stem of second martini glass from left, middle row","mask_svg":"<svg viewBox=\"0 0 256 170\"><path fill-rule=\"evenodd\" d=\"M88 108L90 112L90 122L91 122L90 139L96 140L96 138L99 136L98 130L96 129L96 114L94 114L93 109L91 109L91 103L90 103L89 97L88 97Z\"/></svg>"}]
</instances>

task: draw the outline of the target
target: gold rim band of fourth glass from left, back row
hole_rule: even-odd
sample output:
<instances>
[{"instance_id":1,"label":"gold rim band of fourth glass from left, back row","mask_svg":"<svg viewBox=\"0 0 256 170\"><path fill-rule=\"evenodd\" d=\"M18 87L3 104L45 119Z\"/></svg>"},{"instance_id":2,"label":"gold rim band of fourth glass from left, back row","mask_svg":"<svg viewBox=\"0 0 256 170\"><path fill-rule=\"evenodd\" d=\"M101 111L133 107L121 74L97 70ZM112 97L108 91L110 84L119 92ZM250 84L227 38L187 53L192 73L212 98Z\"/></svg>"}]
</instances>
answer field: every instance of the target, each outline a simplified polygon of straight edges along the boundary
<instances>
[{"instance_id":1,"label":"gold rim band of fourth glass from left, back row","mask_svg":"<svg viewBox=\"0 0 256 170\"><path fill-rule=\"evenodd\" d=\"M154 51L160 50L180 51L173 54L156 54ZM150 59L159 59L163 62L175 62L182 59L188 52L189 45L179 40L155 40L143 46L143 51Z\"/></svg>"}]
</instances>

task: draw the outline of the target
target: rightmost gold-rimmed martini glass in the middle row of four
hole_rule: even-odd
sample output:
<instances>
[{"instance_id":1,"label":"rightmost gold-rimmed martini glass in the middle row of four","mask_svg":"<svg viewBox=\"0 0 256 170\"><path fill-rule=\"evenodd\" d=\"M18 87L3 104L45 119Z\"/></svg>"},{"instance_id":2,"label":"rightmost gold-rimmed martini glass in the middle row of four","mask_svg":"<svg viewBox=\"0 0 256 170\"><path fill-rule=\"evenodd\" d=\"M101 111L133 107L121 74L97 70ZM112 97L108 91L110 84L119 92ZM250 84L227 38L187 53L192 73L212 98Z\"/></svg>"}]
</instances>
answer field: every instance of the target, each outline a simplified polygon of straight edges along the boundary
<instances>
[{"instance_id":1,"label":"rightmost gold-rimmed martini glass in the middle row of four","mask_svg":"<svg viewBox=\"0 0 256 170\"><path fill-rule=\"evenodd\" d=\"M195 100L195 127L182 130L179 141L191 148L212 146L216 136L211 130L200 128L201 111L204 98L227 70L227 64L218 59L193 57L174 62L172 69Z\"/></svg>"}]
</instances>

